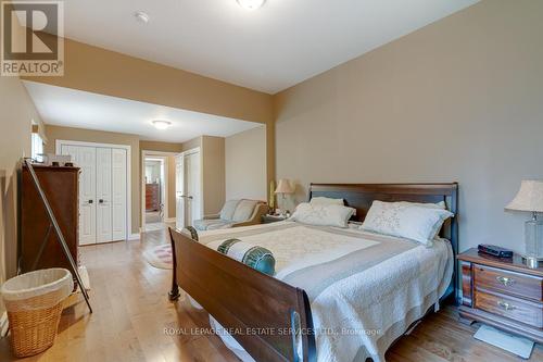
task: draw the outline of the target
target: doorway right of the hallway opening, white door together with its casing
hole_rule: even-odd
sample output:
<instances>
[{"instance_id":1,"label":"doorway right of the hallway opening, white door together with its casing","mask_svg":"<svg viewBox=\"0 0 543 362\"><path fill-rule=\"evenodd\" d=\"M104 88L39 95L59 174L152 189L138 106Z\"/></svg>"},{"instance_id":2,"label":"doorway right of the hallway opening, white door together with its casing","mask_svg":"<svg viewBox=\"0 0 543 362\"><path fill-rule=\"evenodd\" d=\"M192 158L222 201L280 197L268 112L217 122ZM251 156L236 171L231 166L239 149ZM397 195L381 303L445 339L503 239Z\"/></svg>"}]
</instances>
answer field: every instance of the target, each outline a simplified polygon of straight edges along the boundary
<instances>
[{"instance_id":1,"label":"doorway right of the hallway opening, white door together with its casing","mask_svg":"<svg viewBox=\"0 0 543 362\"><path fill-rule=\"evenodd\" d=\"M176 157L176 227L192 226L202 219L202 161L200 148Z\"/></svg>"}]
</instances>

